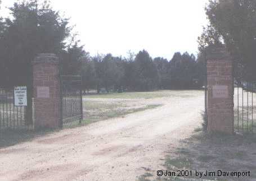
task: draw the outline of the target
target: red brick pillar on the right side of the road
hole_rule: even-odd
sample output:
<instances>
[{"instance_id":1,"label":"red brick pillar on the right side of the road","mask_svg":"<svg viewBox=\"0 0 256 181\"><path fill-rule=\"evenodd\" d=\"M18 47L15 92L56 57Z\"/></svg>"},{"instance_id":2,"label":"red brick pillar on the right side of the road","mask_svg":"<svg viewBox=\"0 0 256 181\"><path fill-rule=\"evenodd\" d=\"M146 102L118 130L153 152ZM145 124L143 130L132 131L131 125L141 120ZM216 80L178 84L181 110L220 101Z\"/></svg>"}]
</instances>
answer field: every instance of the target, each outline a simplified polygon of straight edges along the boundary
<instances>
[{"instance_id":1,"label":"red brick pillar on the right side of the road","mask_svg":"<svg viewBox=\"0 0 256 181\"><path fill-rule=\"evenodd\" d=\"M233 134L233 62L221 46L207 55L208 131Z\"/></svg>"}]
</instances>

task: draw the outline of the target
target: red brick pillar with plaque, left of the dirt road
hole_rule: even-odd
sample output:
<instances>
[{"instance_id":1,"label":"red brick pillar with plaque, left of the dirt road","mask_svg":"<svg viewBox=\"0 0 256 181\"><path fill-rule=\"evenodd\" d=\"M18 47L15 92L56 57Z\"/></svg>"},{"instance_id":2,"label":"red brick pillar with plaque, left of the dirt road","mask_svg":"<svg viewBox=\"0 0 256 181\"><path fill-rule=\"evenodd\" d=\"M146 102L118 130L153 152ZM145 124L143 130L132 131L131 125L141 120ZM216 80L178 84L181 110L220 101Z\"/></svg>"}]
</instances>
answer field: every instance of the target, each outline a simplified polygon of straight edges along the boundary
<instances>
[{"instance_id":1,"label":"red brick pillar with plaque, left of the dirt road","mask_svg":"<svg viewBox=\"0 0 256 181\"><path fill-rule=\"evenodd\" d=\"M34 126L57 128L60 124L59 58L39 54L33 61Z\"/></svg>"}]
</instances>

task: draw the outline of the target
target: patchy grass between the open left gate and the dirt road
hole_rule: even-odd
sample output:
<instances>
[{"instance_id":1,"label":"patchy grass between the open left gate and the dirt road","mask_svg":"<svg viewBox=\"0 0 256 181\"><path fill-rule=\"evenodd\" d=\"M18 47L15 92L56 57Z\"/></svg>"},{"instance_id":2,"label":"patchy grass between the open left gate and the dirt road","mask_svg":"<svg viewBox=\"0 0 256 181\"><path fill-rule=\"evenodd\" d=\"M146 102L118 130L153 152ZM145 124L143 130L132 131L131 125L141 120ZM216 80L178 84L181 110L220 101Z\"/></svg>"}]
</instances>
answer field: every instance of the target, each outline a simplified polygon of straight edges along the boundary
<instances>
[{"instance_id":1,"label":"patchy grass between the open left gate and the dirt road","mask_svg":"<svg viewBox=\"0 0 256 181\"><path fill-rule=\"evenodd\" d=\"M83 123L92 123L99 120L105 120L115 117L122 117L126 114L140 112L147 109L154 109L161 104L150 103L156 98L167 97L189 98L193 90L160 90L150 92L123 92L99 95L83 96L84 121ZM192 92L192 93L191 93ZM196 90L198 92L198 90Z\"/></svg>"}]
</instances>

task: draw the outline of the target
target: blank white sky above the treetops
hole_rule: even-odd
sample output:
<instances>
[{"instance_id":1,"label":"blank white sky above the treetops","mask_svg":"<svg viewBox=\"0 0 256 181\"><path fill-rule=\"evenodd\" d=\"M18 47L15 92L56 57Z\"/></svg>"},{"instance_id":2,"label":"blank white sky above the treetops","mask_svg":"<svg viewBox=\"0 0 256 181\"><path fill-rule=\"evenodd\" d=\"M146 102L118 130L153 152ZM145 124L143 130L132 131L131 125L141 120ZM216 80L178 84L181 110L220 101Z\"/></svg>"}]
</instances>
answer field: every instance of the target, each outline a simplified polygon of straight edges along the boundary
<instances>
[{"instance_id":1,"label":"blank white sky above the treetops","mask_svg":"<svg viewBox=\"0 0 256 181\"><path fill-rule=\"evenodd\" d=\"M15 0L2 0L5 7ZM207 24L207 0L51 0L71 17L71 24L91 55L126 56L146 49L152 57L171 59L174 52L197 53L197 36Z\"/></svg>"}]
</instances>

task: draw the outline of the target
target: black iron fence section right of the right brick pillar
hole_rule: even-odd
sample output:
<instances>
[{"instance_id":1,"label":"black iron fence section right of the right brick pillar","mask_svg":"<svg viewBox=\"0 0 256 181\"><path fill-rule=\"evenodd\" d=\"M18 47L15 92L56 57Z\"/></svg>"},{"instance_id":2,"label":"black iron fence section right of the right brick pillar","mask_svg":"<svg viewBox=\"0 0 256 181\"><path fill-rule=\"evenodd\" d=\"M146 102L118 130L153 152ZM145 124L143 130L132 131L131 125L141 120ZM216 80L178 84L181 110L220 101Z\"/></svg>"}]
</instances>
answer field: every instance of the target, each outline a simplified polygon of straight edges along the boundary
<instances>
[{"instance_id":1,"label":"black iron fence section right of the right brick pillar","mask_svg":"<svg viewBox=\"0 0 256 181\"><path fill-rule=\"evenodd\" d=\"M236 133L256 133L256 83L234 81L234 128Z\"/></svg>"}]
</instances>

